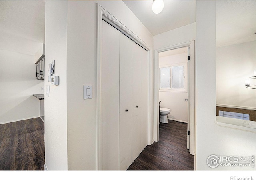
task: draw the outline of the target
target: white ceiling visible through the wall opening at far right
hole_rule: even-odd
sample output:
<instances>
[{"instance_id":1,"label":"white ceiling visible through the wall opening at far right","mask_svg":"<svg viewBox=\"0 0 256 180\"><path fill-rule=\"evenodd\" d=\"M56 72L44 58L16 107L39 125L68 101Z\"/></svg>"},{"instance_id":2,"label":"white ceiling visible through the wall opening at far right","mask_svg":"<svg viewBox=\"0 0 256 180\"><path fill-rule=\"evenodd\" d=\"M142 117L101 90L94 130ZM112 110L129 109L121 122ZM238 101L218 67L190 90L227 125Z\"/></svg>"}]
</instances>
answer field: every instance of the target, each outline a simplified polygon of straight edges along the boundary
<instances>
[{"instance_id":1,"label":"white ceiling visible through the wall opening at far right","mask_svg":"<svg viewBox=\"0 0 256 180\"><path fill-rule=\"evenodd\" d=\"M216 1L216 46L256 40L256 0Z\"/></svg>"}]
</instances>

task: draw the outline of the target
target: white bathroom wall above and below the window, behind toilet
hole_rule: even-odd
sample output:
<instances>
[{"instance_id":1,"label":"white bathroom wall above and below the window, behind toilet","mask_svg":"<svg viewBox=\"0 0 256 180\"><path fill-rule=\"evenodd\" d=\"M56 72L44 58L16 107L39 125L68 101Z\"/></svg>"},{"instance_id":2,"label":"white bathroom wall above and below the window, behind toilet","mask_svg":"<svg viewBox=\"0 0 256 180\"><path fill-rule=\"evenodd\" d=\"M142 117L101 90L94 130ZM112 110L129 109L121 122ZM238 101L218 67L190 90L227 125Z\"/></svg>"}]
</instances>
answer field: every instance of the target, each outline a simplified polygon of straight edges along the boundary
<instances>
[{"instance_id":1,"label":"white bathroom wall above and below the window, behind toilet","mask_svg":"<svg viewBox=\"0 0 256 180\"><path fill-rule=\"evenodd\" d=\"M159 58L159 66L188 62L188 53L175 54ZM187 80L187 78L185 79ZM188 122L188 92L159 91L161 107L171 110L168 119Z\"/></svg>"}]
</instances>

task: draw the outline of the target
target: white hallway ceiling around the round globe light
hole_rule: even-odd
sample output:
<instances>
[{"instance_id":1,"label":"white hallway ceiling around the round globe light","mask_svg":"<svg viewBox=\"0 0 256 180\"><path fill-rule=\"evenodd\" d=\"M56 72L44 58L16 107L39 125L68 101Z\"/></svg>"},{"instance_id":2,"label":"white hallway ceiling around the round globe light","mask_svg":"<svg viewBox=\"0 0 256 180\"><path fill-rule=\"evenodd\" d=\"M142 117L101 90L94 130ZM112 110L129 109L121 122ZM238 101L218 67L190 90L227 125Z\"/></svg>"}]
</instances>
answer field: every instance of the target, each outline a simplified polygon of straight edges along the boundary
<instances>
[{"instance_id":1,"label":"white hallway ceiling around the round globe light","mask_svg":"<svg viewBox=\"0 0 256 180\"><path fill-rule=\"evenodd\" d=\"M196 22L195 0L164 0L159 14L152 11L153 0L123 0L154 36Z\"/></svg>"}]
</instances>

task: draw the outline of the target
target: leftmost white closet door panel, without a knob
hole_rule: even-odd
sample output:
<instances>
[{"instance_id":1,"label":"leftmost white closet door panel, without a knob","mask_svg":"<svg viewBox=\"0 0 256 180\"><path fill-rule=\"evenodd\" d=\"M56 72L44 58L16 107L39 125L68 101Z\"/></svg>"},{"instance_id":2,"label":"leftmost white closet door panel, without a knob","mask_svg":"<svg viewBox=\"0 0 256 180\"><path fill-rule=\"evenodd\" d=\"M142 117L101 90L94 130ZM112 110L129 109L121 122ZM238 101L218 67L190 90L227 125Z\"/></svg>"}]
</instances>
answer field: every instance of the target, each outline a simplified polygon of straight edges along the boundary
<instances>
[{"instance_id":1,"label":"leftmost white closet door panel, without a knob","mask_svg":"<svg viewBox=\"0 0 256 180\"><path fill-rule=\"evenodd\" d=\"M102 170L119 169L119 44L120 32L102 21Z\"/></svg>"}]
</instances>

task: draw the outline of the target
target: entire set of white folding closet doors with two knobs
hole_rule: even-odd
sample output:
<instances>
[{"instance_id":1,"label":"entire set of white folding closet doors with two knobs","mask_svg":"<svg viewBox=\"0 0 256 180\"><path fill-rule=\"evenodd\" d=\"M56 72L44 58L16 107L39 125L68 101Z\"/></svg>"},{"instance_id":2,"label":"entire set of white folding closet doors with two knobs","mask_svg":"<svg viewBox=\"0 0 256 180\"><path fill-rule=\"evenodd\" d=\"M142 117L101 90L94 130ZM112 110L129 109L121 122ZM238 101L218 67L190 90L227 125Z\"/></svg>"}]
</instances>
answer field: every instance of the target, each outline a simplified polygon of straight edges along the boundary
<instances>
[{"instance_id":1,"label":"entire set of white folding closet doors with two knobs","mask_svg":"<svg viewBox=\"0 0 256 180\"><path fill-rule=\"evenodd\" d=\"M102 170L126 170L148 144L148 52L102 21Z\"/></svg>"}]
</instances>

